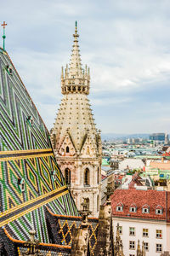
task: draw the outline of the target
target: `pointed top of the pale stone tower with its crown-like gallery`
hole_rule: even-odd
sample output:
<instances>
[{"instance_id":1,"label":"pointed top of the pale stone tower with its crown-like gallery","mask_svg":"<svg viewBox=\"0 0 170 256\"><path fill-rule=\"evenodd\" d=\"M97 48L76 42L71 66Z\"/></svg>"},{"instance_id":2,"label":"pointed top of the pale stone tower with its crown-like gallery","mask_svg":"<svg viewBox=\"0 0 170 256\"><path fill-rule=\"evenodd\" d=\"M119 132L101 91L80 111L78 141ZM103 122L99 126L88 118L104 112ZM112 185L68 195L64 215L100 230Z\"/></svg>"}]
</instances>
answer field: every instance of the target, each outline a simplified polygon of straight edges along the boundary
<instances>
[{"instance_id":1,"label":"pointed top of the pale stone tower with its crown-like gallery","mask_svg":"<svg viewBox=\"0 0 170 256\"><path fill-rule=\"evenodd\" d=\"M66 65L65 73L63 67L61 70L61 91L62 94L83 93L88 95L90 82L89 67L86 65L84 69L82 68L80 49L78 45L79 35L77 34L77 21L73 37L74 44L72 46L70 65L69 67Z\"/></svg>"}]
</instances>

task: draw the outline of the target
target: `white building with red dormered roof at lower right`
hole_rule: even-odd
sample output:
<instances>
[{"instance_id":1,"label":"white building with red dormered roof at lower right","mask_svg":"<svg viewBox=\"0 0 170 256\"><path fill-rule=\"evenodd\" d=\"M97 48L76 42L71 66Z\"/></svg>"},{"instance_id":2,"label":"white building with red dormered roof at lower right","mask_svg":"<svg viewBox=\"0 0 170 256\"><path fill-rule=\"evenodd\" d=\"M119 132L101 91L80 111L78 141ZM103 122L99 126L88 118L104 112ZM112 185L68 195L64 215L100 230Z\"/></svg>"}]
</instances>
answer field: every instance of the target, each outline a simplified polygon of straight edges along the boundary
<instances>
[{"instance_id":1,"label":"white building with red dormered roof at lower right","mask_svg":"<svg viewBox=\"0 0 170 256\"><path fill-rule=\"evenodd\" d=\"M138 240L146 256L170 251L170 192L131 186L111 196L114 236L120 226L125 256L136 255Z\"/></svg>"}]
</instances>

